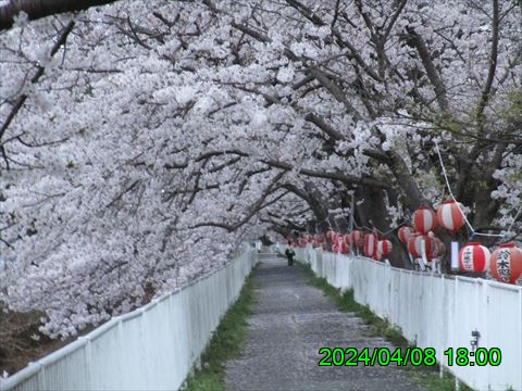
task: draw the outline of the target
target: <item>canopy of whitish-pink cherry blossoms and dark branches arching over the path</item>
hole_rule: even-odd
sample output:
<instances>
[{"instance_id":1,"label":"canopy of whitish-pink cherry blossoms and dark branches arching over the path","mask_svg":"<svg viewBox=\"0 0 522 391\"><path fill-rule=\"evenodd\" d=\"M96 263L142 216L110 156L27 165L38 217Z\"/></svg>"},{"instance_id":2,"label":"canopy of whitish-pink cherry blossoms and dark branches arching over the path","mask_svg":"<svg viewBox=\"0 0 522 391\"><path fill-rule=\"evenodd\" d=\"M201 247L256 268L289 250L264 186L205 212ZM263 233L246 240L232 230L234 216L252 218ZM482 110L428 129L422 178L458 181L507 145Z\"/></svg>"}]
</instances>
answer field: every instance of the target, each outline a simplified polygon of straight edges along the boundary
<instances>
[{"instance_id":1,"label":"canopy of whitish-pink cherry blossoms and dark branches arching over the path","mask_svg":"<svg viewBox=\"0 0 522 391\"><path fill-rule=\"evenodd\" d=\"M445 174L476 231L520 238L520 20L508 0L17 17L0 33L0 300L67 336L245 240L347 229L352 198L357 225L390 231L448 197Z\"/></svg>"}]
</instances>

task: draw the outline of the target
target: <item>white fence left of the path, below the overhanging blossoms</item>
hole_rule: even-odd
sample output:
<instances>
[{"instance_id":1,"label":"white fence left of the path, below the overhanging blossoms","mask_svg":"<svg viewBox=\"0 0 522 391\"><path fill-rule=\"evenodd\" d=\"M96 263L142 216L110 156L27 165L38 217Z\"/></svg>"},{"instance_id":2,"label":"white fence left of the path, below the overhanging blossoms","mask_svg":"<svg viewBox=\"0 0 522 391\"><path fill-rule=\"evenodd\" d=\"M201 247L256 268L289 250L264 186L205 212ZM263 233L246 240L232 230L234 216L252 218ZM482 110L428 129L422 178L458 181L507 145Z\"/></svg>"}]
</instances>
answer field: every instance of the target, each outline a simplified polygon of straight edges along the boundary
<instances>
[{"instance_id":1,"label":"white fence left of the path, below the overhanging blossoms","mask_svg":"<svg viewBox=\"0 0 522 391\"><path fill-rule=\"evenodd\" d=\"M257 262L249 250L224 268L1 380L0 390L176 390Z\"/></svg>"}]
</instances>

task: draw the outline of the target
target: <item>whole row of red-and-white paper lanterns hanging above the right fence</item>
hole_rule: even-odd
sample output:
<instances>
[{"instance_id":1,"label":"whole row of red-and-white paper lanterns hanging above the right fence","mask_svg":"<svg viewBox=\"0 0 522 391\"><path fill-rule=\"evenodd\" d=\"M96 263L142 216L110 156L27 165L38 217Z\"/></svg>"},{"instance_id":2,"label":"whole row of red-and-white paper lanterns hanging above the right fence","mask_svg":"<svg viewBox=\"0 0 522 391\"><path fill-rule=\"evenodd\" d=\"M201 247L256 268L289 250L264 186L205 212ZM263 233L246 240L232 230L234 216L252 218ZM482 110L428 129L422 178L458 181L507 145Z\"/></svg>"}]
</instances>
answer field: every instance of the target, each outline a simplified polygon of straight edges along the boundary
<instances>
[{"instance_id":1,"label":"whole row of red-and-white paper lanterns hanging above the right fence","mask_svg":"<svg viewBox=\"0 0 522 391\"><path fill-rule=\"evenodd\" d=\"M457 234L465 223L462 211L462 205L451 199L440 203L436 212L421 206L413 213L412 227L402 226L398 229L398 238L413 258L439 258L446 253L446 247L433 230L440 226L453 235ZM327 242L334 253L348 254L353 250L375 261L385 260L393 251L389 240L380 239L375 231L364 232L360 229L353 229L346 235L333 230L325 235L306 234L297 239L299 247L312 244L314 248L326 249ZM507 283L515 283L522 275L522 250L513 243L501 243L490 253L481 243L470 242L460 249L458 260L461 272L489 270L493 278Z\"/></svg>"}]
</instances>

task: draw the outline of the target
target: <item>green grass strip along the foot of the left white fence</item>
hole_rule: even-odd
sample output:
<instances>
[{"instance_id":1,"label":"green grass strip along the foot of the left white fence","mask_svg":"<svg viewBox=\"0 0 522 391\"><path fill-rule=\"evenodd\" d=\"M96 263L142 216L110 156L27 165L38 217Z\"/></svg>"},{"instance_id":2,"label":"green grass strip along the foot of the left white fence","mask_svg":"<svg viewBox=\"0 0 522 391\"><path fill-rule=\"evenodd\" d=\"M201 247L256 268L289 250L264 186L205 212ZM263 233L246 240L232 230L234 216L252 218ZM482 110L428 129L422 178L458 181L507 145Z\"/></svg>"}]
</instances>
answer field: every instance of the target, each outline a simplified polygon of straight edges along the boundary
<instances>
[{"instance_id":1,"label":"green grass strip along the foot of the left white fence","mask_svg":"<svg viewBox=\"0 0 522 391\"><path fill-rule=\"evenodd\" d=\"M224 363L241 354L247 333L247 318L252 314L253 308L254 288L250 274L245 280L239 298L221 319L201 355L201 368L187 378L182 390L224 390Z\"/></svg>"}]
</instances>

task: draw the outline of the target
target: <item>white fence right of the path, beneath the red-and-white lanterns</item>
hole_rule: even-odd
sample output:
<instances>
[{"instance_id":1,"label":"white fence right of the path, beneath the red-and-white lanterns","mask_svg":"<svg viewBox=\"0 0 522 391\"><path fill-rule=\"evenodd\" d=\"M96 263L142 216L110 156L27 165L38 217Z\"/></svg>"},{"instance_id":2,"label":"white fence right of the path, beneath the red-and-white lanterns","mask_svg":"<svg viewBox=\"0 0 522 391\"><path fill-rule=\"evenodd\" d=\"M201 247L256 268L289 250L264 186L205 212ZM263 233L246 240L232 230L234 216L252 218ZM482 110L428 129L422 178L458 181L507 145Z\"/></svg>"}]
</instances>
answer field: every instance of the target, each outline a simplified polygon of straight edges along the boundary
<instances>
[{"instance_id":1,"label":"white fence right of the path, beneath the red-and-white lanterns","mask_svg":"<svg viewBox=\"0 0 522 391\"><path fill-rule=\"evenodd\" d=\"M419 348L434 348L437 361L467 384L522 390L522 287L410 272L310 247L296 252L334 287L353 289L357 302L400 328ZM472 351L472 331L480 332L478 348L500 350L500 365L446 365L448 348Z\"/></svg>"}]
</instances>

